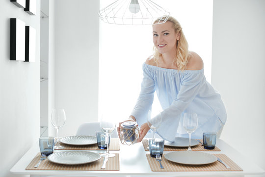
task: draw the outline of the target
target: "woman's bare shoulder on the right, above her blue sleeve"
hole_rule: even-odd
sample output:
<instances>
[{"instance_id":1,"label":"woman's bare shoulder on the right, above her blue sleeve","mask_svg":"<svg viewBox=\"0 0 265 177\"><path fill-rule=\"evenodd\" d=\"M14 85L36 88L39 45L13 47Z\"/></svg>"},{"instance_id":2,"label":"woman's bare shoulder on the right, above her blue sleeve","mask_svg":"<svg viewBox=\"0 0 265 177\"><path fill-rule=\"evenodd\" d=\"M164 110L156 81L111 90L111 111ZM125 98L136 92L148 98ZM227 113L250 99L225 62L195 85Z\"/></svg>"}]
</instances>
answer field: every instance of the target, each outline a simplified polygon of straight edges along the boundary
<instances>
[{"instance_id":1,"label":"woman's bare shoulder on the right, above her blue sleeve","mask_svg":"<svg viewBox=\"0 0 265 177\"><path fill-rule=\"evenodd\" d=\"M186 70L201 70L203 68L202 58L195 52L189 52L189 61Z\"/></svg>"}]
</instances>

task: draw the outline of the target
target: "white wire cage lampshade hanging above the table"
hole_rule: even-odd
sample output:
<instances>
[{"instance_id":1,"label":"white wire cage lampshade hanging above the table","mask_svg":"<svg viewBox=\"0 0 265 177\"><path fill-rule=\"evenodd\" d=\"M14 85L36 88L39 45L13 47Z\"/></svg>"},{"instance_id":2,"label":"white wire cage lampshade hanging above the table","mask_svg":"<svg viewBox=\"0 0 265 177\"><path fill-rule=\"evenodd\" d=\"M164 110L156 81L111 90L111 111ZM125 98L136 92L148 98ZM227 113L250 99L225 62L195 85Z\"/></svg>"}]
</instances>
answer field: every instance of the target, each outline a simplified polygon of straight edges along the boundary
<instances>
[{"instance_id":1,"label":"white wire cage lampshade hanging above the table","mask_svg":"<svg viewBox=\"0 0 265 177\"><path fill-rule=\"evenodd\" d=\"M99 11L101 20L119 25L165 23L170 13L151 0L116 0Z\"/></svg>"}]
</instances>

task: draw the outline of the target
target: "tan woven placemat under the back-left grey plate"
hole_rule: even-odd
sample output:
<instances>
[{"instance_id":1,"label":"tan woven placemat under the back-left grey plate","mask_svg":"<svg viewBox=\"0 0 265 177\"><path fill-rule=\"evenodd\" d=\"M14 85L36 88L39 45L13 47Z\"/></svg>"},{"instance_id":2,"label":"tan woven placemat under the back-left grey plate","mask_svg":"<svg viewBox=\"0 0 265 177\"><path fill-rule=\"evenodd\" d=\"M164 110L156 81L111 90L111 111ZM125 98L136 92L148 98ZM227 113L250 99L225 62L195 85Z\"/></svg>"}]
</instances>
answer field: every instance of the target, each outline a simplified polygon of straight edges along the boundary
<instances>
[{"instance_id":1,"label":"tan woven placemat under the back-left grey plate","mask_svg":"<svg viewBox=\"0 0 265 177\"><path fill-rule=\"evenodd\" d=\"M64 143L60 143L60 144L64 148L63 149L54 148L54 150L106 150L106 149L99 149L98 144L85 145L85 146L66 145ZM120 139L119 138L110 139L109 150L120 150Z\"/></svg>"}]
</instances>

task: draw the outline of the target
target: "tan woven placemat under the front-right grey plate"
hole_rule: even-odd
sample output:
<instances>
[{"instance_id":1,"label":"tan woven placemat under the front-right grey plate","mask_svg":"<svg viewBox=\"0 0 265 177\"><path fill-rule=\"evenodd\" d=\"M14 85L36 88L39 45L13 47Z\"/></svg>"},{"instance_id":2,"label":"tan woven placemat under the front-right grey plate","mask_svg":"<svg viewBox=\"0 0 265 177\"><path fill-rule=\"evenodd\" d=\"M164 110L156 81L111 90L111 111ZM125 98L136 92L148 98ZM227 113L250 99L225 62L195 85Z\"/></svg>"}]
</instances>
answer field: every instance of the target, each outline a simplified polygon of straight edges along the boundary
<instances>
[{"instance_id":1,"label":"tan woven placemat under the front-right grey plate","mask_svg":"<svg viewBox=\"0 0 265 177\"><path fill-rule=\"evenodd\" d=\"M183 171L243 171L235 162L228 158L225 154L213 154L219 157L231 169L227 169L222 163L216 161L207 165L184 165L175 162L171 162L162 156L161 164L164 169L160 169L160 164L156 161L156 158L146 154L149 166L153 172L183 172Z\"/></svg>"}]
</instances>

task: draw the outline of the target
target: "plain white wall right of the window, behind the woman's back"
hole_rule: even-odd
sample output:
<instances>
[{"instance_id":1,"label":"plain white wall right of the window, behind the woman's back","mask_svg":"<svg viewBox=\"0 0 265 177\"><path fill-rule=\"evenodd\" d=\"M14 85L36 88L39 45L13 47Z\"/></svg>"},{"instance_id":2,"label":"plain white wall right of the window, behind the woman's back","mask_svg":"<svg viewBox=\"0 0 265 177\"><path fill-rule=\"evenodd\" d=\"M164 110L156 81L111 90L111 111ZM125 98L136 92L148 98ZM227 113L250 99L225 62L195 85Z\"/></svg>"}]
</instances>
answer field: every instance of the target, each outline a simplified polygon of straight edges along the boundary
<instances>
[{"instance_id":1,"label":"plain white wall right of the window, behind the woman's back","mask_svg":"<svg viewBox=\"0 0 265 177\"><path fill-rule=\"evenodd\" d=\"M213 0L212 85L228 119L221 139L265 169L265 0Z\"/></svg>"}]
</instances>

